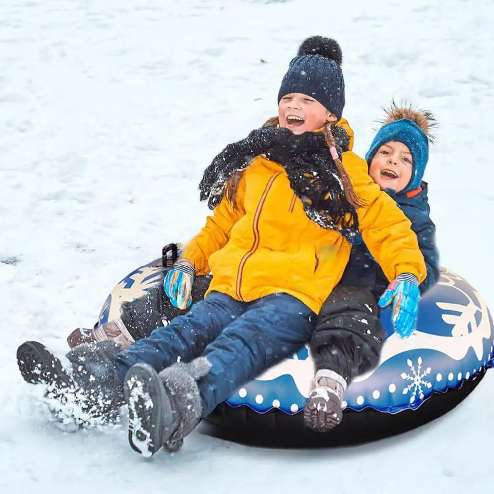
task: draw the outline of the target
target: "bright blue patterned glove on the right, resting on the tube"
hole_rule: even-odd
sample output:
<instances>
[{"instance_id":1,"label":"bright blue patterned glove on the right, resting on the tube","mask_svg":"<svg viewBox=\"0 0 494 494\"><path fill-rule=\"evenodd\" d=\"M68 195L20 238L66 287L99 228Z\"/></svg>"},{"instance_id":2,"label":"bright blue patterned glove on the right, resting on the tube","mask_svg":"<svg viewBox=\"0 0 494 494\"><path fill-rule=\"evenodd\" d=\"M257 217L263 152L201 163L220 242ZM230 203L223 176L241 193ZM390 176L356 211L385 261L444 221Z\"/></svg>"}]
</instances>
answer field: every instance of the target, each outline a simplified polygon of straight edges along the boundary
<instances>
[{"instance_id":1,"label":"bright blue patterned glove on the right, resting on the tube","mask_svg":"<svg viewBox=\"0 0 494 494\"><path fill-rule=\"evenodd\" d=\"M410 273L398 275L379 298L377 305L387 307L393 301L392 321L395 331L402 337L411 336L418 315L418 279Z\"/></svg>"}]
</instances>

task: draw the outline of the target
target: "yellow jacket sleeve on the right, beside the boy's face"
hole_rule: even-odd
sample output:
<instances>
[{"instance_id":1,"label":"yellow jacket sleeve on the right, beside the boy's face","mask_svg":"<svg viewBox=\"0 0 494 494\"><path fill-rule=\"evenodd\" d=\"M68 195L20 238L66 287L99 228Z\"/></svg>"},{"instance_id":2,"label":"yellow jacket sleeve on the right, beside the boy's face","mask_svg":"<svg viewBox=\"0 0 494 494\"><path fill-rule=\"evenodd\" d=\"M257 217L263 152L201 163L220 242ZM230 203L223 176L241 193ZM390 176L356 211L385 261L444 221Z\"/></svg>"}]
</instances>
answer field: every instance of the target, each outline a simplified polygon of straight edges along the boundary
<instances>
[{"instance_id":1,"label":"yellow jacket sleeve on the right, beside the boy's face","mask_svg":"<svg viewBox=\"0 0 494 494\"><path fill-rule=\"evenodd\" d=\"M343 153L355 192L365 202L357 210L360 231L372 256L391 282L410 273L421 283L427 276L424 256L410 220L368 174L367 163L352 152Z\"/></svg>"}]
</instances>

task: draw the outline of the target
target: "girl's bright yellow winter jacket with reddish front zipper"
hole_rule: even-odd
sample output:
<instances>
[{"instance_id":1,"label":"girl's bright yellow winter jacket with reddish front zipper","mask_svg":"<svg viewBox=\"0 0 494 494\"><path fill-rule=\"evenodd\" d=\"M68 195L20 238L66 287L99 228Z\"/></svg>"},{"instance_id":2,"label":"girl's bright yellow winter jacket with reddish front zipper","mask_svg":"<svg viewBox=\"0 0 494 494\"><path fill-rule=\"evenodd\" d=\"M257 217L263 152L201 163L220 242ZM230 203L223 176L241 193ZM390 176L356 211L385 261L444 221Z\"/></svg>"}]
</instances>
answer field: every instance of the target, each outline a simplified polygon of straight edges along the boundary
<instances>
[{"instance_id":1,"label":"girl's bright yellow winter jacket with reddish front zipper","mask_svg":"<svg viewBox=\"0 0 494 494\"><path fill-rule=\"evenodd\" d=\"M350 129L346 121L338 124ZM426 267L410 220L372 182L364 160L348 151L342 162L366 203L357 211L364 242L387 278L412 273L423 281ZM350 243L310 220L285 168L262 156L244 171L236 205L223 198L182 252L198 275L212 273L206 294L216 290L250 301L284 292L319 313L345 270Z\"/></svg>"}]
</instances>

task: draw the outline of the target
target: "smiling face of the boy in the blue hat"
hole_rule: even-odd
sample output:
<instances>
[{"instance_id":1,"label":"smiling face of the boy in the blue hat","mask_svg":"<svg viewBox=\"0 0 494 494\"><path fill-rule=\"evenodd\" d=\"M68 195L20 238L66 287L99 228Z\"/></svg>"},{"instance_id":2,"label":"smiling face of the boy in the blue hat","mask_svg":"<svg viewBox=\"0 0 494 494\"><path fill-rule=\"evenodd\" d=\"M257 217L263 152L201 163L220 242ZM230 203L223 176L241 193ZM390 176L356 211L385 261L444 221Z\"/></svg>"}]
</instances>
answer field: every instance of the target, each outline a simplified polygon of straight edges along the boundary
<instances>
[{"instance_id":1,"label":"smiling face of the boy in the blue hat","mask_svg":"<svg viewBox=\"0 0 494 494\"><path fill-rule=\"evenodd\" d=\"M390 141L383 144L372 158L369 166L371 179L381 189L401 192L412 178L413 162L405 144Z\"/></svg>"}]
</instances>

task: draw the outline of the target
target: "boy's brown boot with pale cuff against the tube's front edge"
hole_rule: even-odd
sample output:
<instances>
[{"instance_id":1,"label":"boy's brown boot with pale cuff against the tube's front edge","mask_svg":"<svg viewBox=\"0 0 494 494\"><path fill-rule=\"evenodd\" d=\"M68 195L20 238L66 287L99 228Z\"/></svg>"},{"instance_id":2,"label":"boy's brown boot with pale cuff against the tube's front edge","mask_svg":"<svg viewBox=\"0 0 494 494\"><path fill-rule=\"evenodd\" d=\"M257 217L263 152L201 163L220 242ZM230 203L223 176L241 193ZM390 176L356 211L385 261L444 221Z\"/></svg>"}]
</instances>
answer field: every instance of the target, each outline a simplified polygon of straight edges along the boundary
<instances>
[{"instance_id":1,"label":"boy's brown boot with pale cuff against the tube's front edge","mask_svg":"<svg viewBox=\"0 0 494 494\"><path fill-rule=\"evenodd\" d=\"M305 425L319 432L336 427L343 418L341 399L345 391L342 376L329 369L317 371L303 412Z\"/></svg>"}]
</instances>

